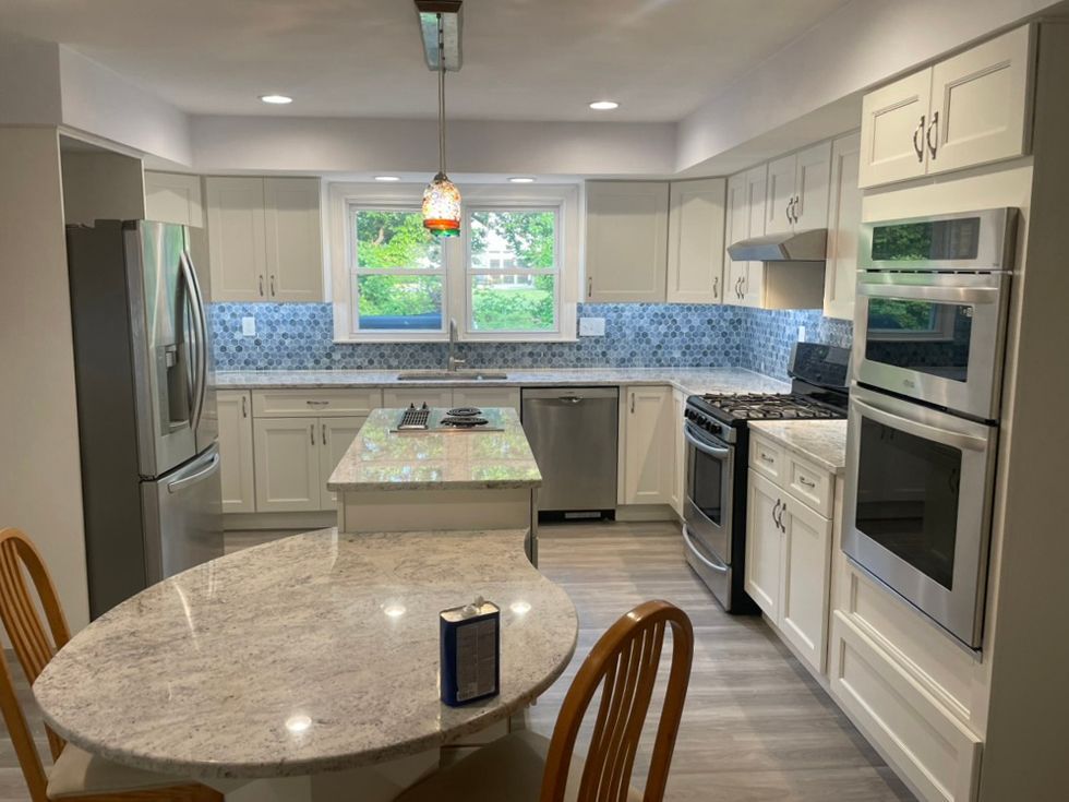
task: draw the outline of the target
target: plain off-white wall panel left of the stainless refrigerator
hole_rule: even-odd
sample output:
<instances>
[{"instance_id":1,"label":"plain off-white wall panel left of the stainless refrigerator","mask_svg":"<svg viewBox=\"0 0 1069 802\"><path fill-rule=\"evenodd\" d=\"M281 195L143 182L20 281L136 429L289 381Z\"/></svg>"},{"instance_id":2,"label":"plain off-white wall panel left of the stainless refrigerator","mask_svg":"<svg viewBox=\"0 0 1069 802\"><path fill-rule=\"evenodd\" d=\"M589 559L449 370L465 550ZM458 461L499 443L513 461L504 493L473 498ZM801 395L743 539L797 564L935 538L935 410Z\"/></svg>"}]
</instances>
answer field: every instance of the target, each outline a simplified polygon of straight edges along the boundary
<instances>
[{"instance_id":1,"label":"plain off-white wall panel left of the stainless refrigerator","mask_svg":"<svg viewBox=\"0 0 1069 802\"><path fill-rule=\"evenodd\" d=\"M0 526L40 548L88 622L67 246L55 128L0 128Z\"/></svg>"}]
</instances>

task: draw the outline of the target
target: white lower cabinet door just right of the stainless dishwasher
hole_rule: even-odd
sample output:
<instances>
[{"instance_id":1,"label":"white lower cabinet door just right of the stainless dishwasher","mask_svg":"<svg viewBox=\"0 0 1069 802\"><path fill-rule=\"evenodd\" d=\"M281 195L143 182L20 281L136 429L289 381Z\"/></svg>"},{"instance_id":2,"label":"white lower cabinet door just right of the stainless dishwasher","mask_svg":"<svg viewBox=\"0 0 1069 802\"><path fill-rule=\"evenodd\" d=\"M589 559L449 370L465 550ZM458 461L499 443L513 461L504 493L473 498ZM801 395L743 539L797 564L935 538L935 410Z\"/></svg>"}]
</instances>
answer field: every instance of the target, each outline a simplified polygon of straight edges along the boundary
<instances>
[{"instance_id":1,"label":"white lower cabinet door just right of the stainless dishwasher","mask_svg":"<svg viewBox=\"0 0 1069 802\"><path fill-rule=\"evenodd\" d=\"M670 504L675 439L672 390L627 387L623 421L623 504Z\"/></svg>"}]
</instances>

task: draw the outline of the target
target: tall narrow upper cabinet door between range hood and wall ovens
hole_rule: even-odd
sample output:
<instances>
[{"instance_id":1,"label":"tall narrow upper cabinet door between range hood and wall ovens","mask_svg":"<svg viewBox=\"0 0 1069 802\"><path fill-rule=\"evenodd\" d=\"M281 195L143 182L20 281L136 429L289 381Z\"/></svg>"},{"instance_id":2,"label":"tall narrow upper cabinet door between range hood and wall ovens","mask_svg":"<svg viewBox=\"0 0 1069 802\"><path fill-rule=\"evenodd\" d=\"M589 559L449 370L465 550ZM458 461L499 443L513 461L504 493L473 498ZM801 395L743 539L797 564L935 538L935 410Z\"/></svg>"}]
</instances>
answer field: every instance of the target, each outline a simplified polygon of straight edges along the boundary
<instances>
[{"instance_id":1,"label":"tall narrow upper cabinet door between range hood and wall ovens","mask_svg":"<svg viewBox=\"0 0 1069 802\"><path fill-rule=\"evenodd\" d=\"M825 265L824 314L854 319L857 284L857 231L861 228L861 189L857 160L861 134L836 140L831 145L831 200L828 206L828 262Z\"/></svg>"}]
</instances>

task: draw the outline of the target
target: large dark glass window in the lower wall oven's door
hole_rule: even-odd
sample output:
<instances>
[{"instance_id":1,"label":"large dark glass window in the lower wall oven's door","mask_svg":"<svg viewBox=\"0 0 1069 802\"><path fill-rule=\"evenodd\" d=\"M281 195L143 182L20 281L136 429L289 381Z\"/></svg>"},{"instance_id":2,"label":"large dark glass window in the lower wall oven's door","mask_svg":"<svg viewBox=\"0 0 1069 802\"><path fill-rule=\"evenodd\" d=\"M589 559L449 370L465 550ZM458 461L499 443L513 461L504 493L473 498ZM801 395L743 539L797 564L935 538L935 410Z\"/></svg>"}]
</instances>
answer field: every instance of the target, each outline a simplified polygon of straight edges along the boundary
<instances>
[{"instance_id":1,"label":"large dark glass window in the lower wall oven's door","mask_svg":"<svg viewBox=\"0 0 1069 802\"><path fill-rule=\"evenodd\" d=\"M961 452L862 418L858 531L952 589Z\"/></svg>"}]
</instances>

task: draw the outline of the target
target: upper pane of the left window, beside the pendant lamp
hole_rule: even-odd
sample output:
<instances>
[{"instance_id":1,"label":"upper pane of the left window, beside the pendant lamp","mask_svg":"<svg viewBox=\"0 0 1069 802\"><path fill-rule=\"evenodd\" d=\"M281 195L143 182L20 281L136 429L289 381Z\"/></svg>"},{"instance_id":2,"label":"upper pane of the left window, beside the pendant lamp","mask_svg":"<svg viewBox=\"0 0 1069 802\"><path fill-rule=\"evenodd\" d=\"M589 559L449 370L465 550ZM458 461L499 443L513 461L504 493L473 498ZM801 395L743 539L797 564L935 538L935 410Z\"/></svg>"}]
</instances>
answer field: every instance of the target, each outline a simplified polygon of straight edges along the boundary
<instances>
[{"instance_id":1,"label":"upper pane of the left window, beside the pendant lamp","mask_svg":"<svg viewBox=\"0 0 1069 802\"><path fill-rule=\"evenodd\" d=\"M423 228L419 212L361 208L353 218L358 268L442 267L442 242Z\"/></svg>"}]
</instances>

